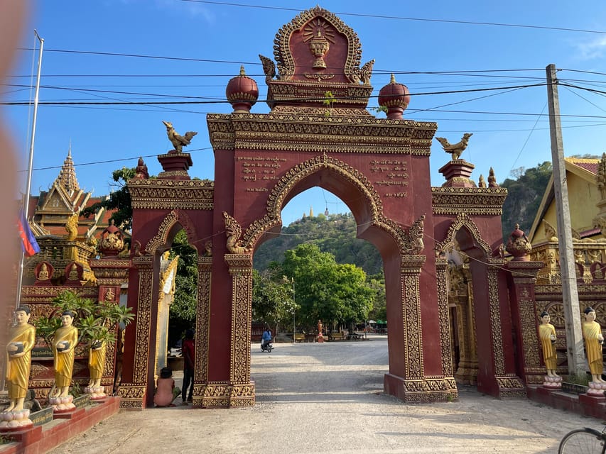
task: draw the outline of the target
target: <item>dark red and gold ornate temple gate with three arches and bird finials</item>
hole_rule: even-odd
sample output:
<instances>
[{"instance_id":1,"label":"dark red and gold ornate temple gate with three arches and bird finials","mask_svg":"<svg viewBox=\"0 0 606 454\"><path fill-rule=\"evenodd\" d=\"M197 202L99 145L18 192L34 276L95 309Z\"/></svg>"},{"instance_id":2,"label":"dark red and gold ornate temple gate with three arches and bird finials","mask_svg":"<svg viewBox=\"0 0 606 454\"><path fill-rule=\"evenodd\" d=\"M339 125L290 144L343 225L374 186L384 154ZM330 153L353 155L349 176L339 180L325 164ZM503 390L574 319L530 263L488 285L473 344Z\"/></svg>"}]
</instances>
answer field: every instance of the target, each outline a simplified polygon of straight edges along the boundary
<instances>
[{"instance_id":1,"label":"dark red and gold ornate temple gate with three arches and bird finials","mask_svg":"<svg viewBox=\"0 0 606 454\"><path fill-rule=\"evenodd\" d=\"M207 116L214 182L190 179L193 160L176 147L158 156L163 172L157 179L139 162L129 181L128 299L136 323L126 330L121 406L152 403L160 260L180 229L198 250L193 403L254 404L253 254L281 231L283 206L315 186L347 204L357 238L382 255L386 393L406 402L455 399L458 375L480 392L514 397L526 395L526 382L536 382L541 367L524 363L524 345L514 345L512 336L519 332L521 339L527 327L520 321L528 314L509 298L532 298L528 276L536 264L521 256L512 262L519 279L509 278L500 219L507 190L492 172L488 184L480 177L477 185L470 179L474 166L446 146L452 160L440 169L445 183L431 187L437 124L403 117L410 96L394 77L379 94L387 118L370 114L374 60L362 65L361 56L356 33L340 18L319 6L303 11L279 29L274 59L259 55L269 114L252 111L259 89L242 68L227 84L232 113ZM455 257L464 258L458 266L465 275L453 294Z\"/></svg>"}]
</instances>

